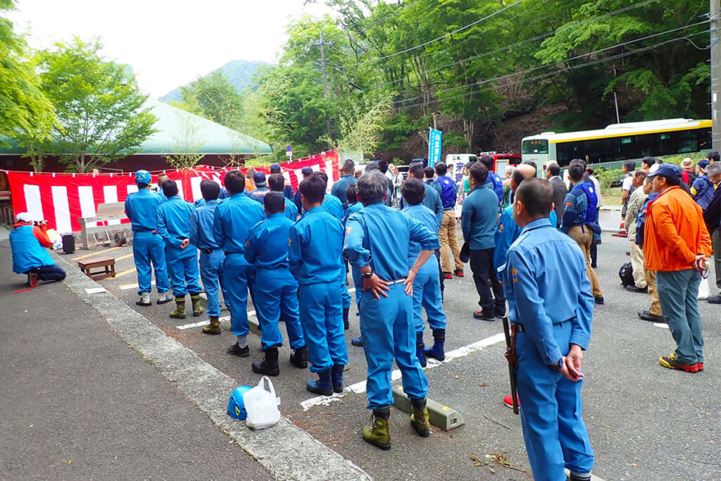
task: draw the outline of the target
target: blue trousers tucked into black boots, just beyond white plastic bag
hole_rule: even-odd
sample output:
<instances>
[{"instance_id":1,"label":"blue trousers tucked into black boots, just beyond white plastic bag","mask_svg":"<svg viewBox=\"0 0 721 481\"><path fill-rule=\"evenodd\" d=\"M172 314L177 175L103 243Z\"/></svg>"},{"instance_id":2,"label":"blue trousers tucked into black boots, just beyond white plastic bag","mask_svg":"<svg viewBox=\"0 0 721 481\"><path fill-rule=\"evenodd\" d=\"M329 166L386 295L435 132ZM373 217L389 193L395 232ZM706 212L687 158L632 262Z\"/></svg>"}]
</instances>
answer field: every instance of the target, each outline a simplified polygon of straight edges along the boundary
<instances>
[{"instance_id":1,"label":"blue trousers tucked into black boots, just beyond white plastic bag","mask_svg":"<svg viewBox=\"0 0 721 481\"><path fill-rule=\"evenodd\" d=\"M283 345L278 321L280 313L286 322L288 342L291 349L306 345L303 329L298 319L298 281L293 278L287 268L258 269L255 271L255 282L262 288L257 289L253 303L255 311L262 312L260 321L260 344L263 349Z\"/></svg>"}]
</instances>

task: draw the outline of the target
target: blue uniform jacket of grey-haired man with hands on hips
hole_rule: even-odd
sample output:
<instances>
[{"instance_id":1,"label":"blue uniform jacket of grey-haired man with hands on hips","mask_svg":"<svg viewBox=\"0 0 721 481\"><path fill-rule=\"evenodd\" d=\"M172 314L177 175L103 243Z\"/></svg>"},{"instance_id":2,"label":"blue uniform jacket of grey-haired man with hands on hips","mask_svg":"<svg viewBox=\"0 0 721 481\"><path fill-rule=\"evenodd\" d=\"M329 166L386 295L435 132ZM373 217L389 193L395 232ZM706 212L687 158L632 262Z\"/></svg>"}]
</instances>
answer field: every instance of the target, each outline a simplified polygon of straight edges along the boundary
<instances>
[{"instance_id":1,"label":"blue uniform jacket of grey-haired man with hands on hips","mask_svg":"<svg viewBox=\"0 0 721 481\"><path fill-rule=\"evenodd\" d=\"M370 265L384 281L397 281L408 274L411 242L420 244L420 250L441 248L438 231L379 202L348 218L343 250L354 267Z\"/></svg>"}]
</instances>

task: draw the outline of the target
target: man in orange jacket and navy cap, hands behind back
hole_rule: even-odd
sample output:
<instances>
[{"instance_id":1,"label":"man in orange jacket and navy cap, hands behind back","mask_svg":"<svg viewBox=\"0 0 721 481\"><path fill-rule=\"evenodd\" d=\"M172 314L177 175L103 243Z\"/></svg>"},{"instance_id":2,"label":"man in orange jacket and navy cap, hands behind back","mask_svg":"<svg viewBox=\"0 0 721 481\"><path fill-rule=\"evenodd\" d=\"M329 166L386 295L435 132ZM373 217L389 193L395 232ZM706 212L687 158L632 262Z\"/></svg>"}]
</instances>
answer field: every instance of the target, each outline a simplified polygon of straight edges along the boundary
<instances>
[{"instance_id":1,"label":"man in orange jacket and navy cap, hands behind back","mask_svg":"<svg viewBox=\"0 0 721 481\"><path fill-rule=\"evenodd\" d=\"M668 369L703 371L704 338L696 296L711 255L711 237L701 208L679 187L678 166L661 164L648 177L659 195L648 206L646 268L657 271L658 299L676 341L676 350L658 362Z\"/></svg>"}]
</instances>

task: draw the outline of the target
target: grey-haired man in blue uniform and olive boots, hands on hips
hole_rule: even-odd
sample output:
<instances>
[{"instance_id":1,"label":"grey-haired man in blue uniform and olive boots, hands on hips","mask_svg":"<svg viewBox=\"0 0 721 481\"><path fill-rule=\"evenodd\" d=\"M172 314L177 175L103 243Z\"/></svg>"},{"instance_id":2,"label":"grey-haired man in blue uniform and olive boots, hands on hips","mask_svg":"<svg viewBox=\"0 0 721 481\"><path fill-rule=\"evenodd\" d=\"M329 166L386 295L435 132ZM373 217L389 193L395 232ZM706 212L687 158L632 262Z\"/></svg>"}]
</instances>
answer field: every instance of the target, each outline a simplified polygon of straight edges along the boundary
<instances>
[{"instance_id":1,"label":"grey-haired man in blue uniform and olive boots, hands on hips","mask_svg":"<svg viewBox=\"0 0 721 481\"><path fill-rule=\"evenodd\" d=\"M367 173L358 180L358 198L364 207L348 219L343 245L350 263L363 275L361 335L368 363L368 409L375 418L373 426L363 428L363 439L381 449L391 447L393 358L413 405L411 425L420 436L430 436L425 407L428 381L415 356L412 294L416 274L439 247L435 232L384 206L387 185L380 172ZM409 270L411 242L420 244L420 253Z\"/></svg>"}]
</instances>

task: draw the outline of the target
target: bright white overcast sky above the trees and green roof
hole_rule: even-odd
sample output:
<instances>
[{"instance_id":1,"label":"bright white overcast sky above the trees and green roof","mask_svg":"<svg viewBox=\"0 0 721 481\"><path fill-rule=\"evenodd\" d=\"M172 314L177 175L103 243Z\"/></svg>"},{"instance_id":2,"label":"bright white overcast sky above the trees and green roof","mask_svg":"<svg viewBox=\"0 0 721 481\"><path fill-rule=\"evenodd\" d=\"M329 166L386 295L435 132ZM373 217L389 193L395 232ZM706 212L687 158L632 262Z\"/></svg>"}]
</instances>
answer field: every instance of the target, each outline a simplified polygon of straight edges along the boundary
<instances>
[{"instance_id":1,"label":"bright white overcast sky above the trees and green roof","mask_svg":"<svg viewBox=\"0 0 721 481\"><path fill-rule=\"evenodd\" d=\"M161 97L231 60L275 62L303 0L17 0L9 15L34 48L97 35L108 60L130 63L141 89Z\"/></svg>"}]
</instances>

